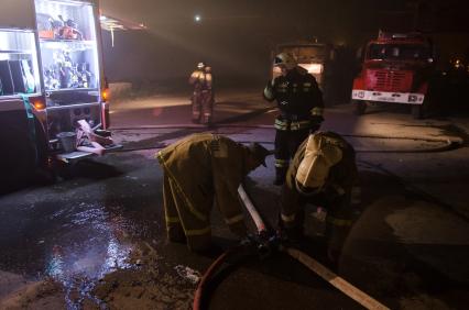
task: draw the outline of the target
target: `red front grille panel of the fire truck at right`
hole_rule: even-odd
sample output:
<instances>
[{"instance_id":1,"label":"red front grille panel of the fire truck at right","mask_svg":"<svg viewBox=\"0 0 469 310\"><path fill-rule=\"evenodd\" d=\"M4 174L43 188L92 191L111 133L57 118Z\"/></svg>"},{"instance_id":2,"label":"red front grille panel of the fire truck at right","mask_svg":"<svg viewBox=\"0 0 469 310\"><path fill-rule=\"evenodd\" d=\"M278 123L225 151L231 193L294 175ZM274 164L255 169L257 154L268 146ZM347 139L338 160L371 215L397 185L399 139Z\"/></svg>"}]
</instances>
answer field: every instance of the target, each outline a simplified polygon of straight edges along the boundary
<instances>
[{"instance_id":1,"label":"red front grille panel of the fire truck at right","mask_svg":"<svg viewBox=\"0 0 469 310\"><path fill-rule=\"evenodd\" d=\"M407 92L412 77L412 71L369 70L367 85L371 90Z\"/></svg>"}]
</instances>

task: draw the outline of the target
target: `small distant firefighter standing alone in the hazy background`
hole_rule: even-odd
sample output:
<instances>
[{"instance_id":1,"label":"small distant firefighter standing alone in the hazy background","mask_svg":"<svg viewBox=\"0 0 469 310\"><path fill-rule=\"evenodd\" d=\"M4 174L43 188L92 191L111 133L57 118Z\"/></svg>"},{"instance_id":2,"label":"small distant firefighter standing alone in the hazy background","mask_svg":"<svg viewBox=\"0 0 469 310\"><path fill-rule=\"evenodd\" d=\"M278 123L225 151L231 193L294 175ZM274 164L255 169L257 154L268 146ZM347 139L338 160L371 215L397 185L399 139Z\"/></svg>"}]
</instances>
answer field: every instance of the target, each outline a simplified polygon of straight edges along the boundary
<instances>
[{"instance_id":1,"label":"small distant firefighter standing alone in the hazy background","mask_svg":"<svg viewBox=\"0 0 469 310\"><path fill-rule=\"evenodd\" d=\"M210 124L214 114L214 91L211 67L198 63L190 75L189 84L194 86L192 96L193 122Z\"/></svg>"}]
</instances>

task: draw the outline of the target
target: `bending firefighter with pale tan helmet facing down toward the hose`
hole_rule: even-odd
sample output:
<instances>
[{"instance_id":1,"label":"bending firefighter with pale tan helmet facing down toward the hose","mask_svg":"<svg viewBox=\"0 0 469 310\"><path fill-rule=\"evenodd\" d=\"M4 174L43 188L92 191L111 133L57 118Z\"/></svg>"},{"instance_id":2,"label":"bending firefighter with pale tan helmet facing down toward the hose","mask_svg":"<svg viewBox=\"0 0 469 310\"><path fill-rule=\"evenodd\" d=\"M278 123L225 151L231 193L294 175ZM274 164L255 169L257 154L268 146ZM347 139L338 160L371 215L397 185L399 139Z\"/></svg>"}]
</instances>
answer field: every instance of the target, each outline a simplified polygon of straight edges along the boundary
<instances>
[{"instance_id":1,"label":"bending firefighter with pale tan helmet facing down toward the hose","mask_svg":"<svg viewBox=\"0 0 469 310\"><path fill-rule=\"evenodd\" d=\"M281 198L281 231L303 236L304 206L324 207L328 257L337 262L352 225L351 190L357 180L353 147L332 132L310 134L299 146Z\"/></svg>"}]
</instances>

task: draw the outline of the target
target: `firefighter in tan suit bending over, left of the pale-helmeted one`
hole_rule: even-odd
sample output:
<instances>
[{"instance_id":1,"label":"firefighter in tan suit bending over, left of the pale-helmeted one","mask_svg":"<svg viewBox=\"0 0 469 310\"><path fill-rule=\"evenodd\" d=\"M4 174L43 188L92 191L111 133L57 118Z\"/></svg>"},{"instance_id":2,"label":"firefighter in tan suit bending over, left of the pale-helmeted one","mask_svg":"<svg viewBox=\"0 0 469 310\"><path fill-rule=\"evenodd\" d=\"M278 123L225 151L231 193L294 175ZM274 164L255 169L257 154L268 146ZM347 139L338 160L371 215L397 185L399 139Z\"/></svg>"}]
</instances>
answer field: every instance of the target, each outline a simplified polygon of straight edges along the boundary
<instances>
[{"instance_id":1,"label":"firefighter in tan suit bending over, left of the pale-helmeted one","mask_svg":"<svg viewBox=\"0 0 469 310\"><path fill-rule=\"evenodd\" d=\"M209 250L214 202L230 230L246 237L238 187L251 170L265 166L266 155L258 143L244 146L210 133L189 135L160 151L168 240L187 242L190 251Z\"/></svg>"}]
</instances>

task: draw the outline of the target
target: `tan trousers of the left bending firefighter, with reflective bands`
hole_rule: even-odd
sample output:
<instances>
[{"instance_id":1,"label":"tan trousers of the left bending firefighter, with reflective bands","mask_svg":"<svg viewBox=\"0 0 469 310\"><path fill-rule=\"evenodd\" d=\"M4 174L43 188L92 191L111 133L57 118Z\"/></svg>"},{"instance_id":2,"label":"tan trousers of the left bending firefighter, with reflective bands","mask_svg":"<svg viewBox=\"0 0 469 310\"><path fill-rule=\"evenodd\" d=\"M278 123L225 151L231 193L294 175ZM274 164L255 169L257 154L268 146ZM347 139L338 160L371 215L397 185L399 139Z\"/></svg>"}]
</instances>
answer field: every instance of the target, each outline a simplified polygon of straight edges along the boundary
<instances>
[{"instance_id":1,"label":"tan trousers of the left bending firefighter, with reflective bands","mask_svg":"<svg viewBox=\"0 0 469 310\"><path fill-rule=\"evenodd\" d=\"M167 174L164 175L163 200L168 241L186 242L190 251L209 248L211 244L209 220L200 220L190 211L184 192Z\"/></svg>"}]
</instances>

